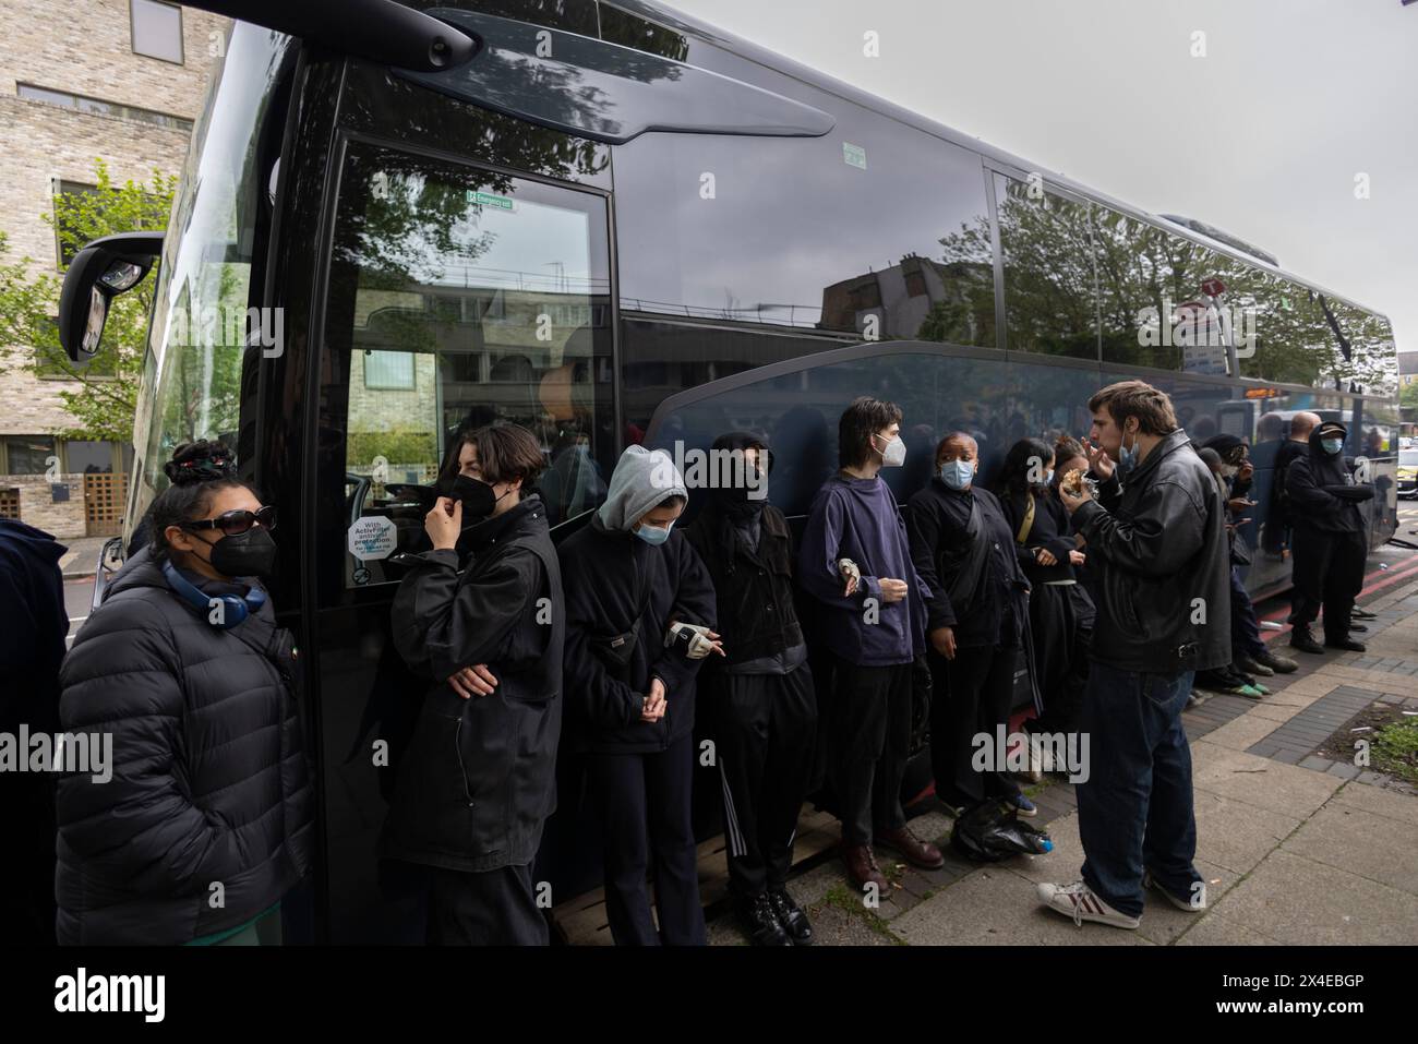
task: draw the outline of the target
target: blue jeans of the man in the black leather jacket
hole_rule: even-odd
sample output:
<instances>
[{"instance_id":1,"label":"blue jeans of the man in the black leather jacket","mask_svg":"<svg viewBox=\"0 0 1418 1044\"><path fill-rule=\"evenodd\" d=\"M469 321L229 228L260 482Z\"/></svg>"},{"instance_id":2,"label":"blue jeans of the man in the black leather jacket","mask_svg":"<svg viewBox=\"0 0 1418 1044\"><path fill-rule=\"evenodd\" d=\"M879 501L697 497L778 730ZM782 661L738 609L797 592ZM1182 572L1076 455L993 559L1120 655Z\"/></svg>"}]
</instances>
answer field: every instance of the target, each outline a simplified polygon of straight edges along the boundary
<instances>
[{"instance_id":1,"label":"blue jeans of the man in the black leather jacket","mask_svg":"<svg viewBox=\"0 0 1418 1044\"><path fill-rule=\"evenodd\" d=\"M1181 899L1202 879L1193 865L1191 748L1181 728L1191 677L1089 664L1082 728L1092 765L1078 787L1083 881L1129 916L1143 912L1143 867Z\"/></svg>"}]
</instances>

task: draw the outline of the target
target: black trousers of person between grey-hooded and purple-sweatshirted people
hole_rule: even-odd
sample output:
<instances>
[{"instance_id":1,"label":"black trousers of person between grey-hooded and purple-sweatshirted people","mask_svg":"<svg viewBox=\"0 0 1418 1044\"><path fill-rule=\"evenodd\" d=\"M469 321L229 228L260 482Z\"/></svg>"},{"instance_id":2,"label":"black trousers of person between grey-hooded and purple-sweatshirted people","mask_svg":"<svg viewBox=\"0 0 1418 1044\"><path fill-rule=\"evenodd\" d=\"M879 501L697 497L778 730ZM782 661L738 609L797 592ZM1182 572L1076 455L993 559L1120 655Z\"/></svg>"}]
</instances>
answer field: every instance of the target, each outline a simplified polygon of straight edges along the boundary
<instances>
[{"instance_id":1,"label":"black trousers of person between grey-hooded and purple-sweatshirted people","mask_svg":"<svg viewBox=\"0 0 1418 1044\"><path fill-rule=\"evenodd\" d=\"M813 672L803 664L786 675L719 674L700 687L723 783L729 885L740 896L761 895L783 885L793 865L817 740Z\"/></svg>"}]
</instances>

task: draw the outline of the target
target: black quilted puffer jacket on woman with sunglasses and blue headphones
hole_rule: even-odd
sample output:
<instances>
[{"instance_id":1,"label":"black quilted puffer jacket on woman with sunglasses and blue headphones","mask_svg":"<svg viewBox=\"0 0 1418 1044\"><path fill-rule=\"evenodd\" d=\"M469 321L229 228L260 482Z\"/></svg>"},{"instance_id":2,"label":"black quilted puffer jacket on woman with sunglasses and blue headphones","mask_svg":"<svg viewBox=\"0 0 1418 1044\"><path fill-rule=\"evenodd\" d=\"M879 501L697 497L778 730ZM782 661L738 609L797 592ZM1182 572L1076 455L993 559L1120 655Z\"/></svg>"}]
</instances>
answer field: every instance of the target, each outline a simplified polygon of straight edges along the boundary
<instances>
[{"instance_id":1,"label":"black quilted puffer jacket on woman with sunglasses and blue headphones","mask_svg":"<svg viewBox=\"0 0 1418 1044\"><path fill-rule=\"evenodd\" d=\"M60 675L62 728L113 735L109 782L60 779L61 943L190 942L301 879L313 792L294 648L269 601L220 630L147 549L123 566Z\"/></svg>"}]
</instances>

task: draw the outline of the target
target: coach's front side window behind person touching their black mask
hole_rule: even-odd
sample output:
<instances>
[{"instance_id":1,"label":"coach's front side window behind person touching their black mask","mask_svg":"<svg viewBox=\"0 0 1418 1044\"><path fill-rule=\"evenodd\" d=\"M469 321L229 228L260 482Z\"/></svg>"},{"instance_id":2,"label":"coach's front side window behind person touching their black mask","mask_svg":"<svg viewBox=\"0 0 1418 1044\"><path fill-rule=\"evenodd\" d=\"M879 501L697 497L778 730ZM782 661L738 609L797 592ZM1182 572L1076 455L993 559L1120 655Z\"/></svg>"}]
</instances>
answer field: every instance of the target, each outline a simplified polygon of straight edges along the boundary
<instances>
[{"instance_id":1,"label":"coach's front side window behind person touching their black mask","mask_svg":"<svg viewBox=\"0 0 1418 1044\"><path fill-rule=\"evenodd\" d=\"M326 316L330 401L343 441L346 526L376 553L346 582L423 549L423 515L450 438L496 420L530 430L553 525L604 498L613 452L604 201L503 174L354 145L336 216ZM600 460L598 460L600 458ZM423 487L424 489L420 489ZM379 553L381 552L381 553Z\"/></svg>"}]
</instances>

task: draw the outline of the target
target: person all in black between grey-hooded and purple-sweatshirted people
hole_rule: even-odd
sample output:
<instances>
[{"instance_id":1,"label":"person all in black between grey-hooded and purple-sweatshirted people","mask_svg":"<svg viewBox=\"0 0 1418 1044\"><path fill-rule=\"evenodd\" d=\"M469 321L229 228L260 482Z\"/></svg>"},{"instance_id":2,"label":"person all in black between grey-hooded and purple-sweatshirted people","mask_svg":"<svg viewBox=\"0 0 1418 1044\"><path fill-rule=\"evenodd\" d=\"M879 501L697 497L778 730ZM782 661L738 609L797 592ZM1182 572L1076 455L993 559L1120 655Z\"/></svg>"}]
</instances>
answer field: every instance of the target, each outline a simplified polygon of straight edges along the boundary
<instances>
[{"instance_id":1,"label":"person all in black between grey-hooded and purple-sweatshirted people","mask_svg":"<svg viewBox=\"0 0 1418 1044\"><path fill-rule=\"evenodd\" d=\"M713 451L729 460L730 481L709 489L685 536L713 577L723 633L725 655L699 678L699 716L723 780L729 887L754 943L805 946L813 926L787 879L813 773L817 695L793 601L793 533L767 499L767 440L732 431Z\"/></svg>"}]
</instances>

